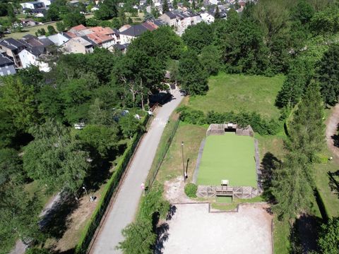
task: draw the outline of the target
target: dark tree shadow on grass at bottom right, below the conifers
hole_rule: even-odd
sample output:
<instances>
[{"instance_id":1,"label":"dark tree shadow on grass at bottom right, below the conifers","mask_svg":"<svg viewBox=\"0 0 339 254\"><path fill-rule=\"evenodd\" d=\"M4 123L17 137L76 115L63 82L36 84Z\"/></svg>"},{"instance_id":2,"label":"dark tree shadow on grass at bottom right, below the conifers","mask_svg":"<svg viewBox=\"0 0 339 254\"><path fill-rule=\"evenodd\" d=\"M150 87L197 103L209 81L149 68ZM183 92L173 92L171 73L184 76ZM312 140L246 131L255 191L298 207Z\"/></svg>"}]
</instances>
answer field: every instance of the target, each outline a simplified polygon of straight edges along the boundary
<instances>
[{"instance_id":1,"label":"dark tree shadow on grass at bottom right, below the conifers","mask_svg":"<svg viewBox=\"0 0 339 254\"><path fill-rule=\"evenodd\" d=\"M290 234L290 253L316 253L321 218L302 214L293 224Z\"/></svg>"}]
</instances>

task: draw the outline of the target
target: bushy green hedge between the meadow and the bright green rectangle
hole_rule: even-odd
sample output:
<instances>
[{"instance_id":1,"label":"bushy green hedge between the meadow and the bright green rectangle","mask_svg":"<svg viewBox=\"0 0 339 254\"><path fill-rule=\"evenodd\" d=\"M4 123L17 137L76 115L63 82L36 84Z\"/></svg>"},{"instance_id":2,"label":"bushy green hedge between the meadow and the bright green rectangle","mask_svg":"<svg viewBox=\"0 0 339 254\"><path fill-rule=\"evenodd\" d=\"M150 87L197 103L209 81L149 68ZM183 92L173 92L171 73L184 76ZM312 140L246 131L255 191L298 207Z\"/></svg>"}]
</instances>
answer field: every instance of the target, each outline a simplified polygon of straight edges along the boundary
<instances>
[{"instance_id":1,"label":"bushy green hedge between the meadow and the bright green rectangle","mask_svg":"<svg viewBox=\"0 0 339 254\"><path fill-rule=\"evenodd\" d=\"M250 125L256 133L261 135L275 135L282 128L283 123L275 119L266 119L256 112L234 111L217 113L209 111L207 115L203 111L191 109L183 106L179 107L177 111L180 113L180 120L186 123L193 123L198 125L211 123L227 123L233 122L240 126Z\"/></svg>"}]
</instances>

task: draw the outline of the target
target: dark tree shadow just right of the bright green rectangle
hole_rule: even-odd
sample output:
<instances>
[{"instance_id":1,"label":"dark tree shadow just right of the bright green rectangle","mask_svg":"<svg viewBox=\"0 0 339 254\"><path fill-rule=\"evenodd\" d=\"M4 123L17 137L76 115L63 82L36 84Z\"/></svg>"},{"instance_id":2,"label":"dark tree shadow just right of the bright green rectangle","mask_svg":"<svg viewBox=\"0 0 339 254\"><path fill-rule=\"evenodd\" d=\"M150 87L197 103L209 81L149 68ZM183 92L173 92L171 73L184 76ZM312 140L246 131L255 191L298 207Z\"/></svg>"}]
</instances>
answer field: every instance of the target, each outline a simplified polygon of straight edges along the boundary
<instances>
[{"instance_id":1,"label":"dark tree shadow just right of the bright green rectangle","mask_svg":"<svg viewBox=\"0 0 339 254\"><path fill-rule=\"evenodd\" d=\"M273 202L274 197L270 191L272 186L273 170L278 169L281 165L280 159L272 153L266 152L261 160L261 175L259 181L263 188L263 198L268 202Z\"/></svg>"}]
</instances>

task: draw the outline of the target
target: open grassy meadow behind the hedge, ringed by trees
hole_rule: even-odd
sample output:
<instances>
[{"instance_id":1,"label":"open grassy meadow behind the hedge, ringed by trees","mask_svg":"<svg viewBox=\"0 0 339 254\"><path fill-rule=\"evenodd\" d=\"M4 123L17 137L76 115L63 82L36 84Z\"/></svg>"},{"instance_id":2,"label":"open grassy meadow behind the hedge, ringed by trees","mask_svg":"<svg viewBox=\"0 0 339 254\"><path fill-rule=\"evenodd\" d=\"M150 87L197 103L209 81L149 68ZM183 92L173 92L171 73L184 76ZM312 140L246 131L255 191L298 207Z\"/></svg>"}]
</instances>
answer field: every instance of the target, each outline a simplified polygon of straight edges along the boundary
<instances>
[{"instance_id":1,"label":"open grassy meadow behind the hedge, ringed by trees","mask_svg":"<svg viewBox=\"0 0 339 254\"><path fill-rule=\"evenodd\" d=\"M284 76L268 78L258 75L231 75L220 73L208 80L209 91L204 96L194 96L189 107L204 111L256 111L278 117L275 97L283 85Z\"/></svg>"}]
</instances>

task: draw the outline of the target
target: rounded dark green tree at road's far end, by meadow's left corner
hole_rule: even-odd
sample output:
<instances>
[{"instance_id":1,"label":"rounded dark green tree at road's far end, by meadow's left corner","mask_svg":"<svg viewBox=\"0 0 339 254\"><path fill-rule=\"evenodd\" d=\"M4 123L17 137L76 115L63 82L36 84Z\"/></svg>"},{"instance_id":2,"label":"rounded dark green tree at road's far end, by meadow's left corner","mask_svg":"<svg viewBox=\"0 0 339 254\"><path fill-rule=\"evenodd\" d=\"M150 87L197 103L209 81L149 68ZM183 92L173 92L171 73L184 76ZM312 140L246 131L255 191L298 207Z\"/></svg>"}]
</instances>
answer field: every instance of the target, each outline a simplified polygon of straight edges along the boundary
<instances>
[{"instance_id":1,"label":"rounded dark green tree at road's far end, by meadow's left corner","mask_svg":"<svg viewBox=\"0 0 339 254\"><path fill-rule=\"evenodd\" d=\"M179 77L182 88L189 95L206 94L208 75L193 50L184 52L179 59Z\"/></svg>"}]
</instances>

